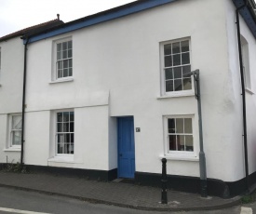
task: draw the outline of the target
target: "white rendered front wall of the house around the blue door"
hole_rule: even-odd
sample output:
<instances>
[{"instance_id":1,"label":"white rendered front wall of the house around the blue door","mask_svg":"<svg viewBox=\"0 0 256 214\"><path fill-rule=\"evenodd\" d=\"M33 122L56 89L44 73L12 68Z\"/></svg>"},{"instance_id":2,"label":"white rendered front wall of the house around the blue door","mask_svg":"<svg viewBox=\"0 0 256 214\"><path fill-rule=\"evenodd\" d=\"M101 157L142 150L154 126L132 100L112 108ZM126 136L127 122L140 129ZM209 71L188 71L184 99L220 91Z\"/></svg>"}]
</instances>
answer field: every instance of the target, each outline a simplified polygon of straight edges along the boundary
<instances>
[{"instance_id":1,"label":"white rendered front wall of the house around the blue door","mask_svg":"<svg viewBox=\"0 0 256 214\"><path fill-rule=\"evenodd\" d=\"M226 27L232 14L226 15L226 6L230 7L222 0L181 0L30 44L25 163L116 168L116 117L133 115L134 127L141 127L141 132L135 132L136 171L161 173L160 160L165 156L168 174L198 177L194 92L175 97L161 91L161 44L188 38L192 70L200 69L208 177L242 179L242 117L237 107L241 101L237 65L231 63L236 62L236 56L231 57L235 52L230 51L235 47L227 39L234 30ZM73 41L73 79L55 83L53 45L66 37ZM253 108L253 101L248 108ZM56 111L64 109L74 109L74 155L60 157L54 118ZM183 115L193 118L194 153L168 154L165 118Z\"/></svg>"}]
</instances>

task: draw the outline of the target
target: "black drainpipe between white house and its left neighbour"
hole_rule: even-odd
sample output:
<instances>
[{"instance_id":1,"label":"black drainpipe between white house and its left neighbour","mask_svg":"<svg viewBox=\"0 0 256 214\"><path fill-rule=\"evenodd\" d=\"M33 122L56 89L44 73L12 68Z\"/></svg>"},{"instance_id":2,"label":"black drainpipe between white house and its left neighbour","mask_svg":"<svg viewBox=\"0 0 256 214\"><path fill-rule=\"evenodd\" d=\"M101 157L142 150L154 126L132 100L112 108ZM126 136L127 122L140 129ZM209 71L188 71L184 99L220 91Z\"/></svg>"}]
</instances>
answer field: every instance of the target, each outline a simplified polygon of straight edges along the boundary
<instances>
[{"instance_id":1,"label":"black drainpipe between white house and its left neighbour","mask_svg":"<svg viewBox=\"0 0 256 214\"><path fill-rule=\"evenodd\" d=\"M26 76L27 76L27 46L29 43L29 37L26 38L24 46L24 73L23 73L23 92L22 92L22 129L21 129L21 154L20 165L23 167L23 154L24 154L24 114L25 114L25 100L26 100Z\"/></svg>"}]
</instances>

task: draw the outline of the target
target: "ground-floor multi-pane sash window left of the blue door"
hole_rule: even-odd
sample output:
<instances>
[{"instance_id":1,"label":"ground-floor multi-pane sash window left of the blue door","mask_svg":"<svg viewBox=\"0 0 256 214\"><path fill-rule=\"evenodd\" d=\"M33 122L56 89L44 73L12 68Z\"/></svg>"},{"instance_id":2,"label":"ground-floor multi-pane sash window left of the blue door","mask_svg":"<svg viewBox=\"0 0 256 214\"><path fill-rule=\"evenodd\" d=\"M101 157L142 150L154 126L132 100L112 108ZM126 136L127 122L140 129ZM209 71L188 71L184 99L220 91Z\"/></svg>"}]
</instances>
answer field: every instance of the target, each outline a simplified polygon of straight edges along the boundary
<instances>
[{"instance_id":1,"label":"ground-floor multi-pane sash window left of the blue door","mask_svg":"<svg viewBox=\"0 0 256 214\"><path fill-rule=\"evenodd\" d=\"M74 112L56 114L57 154L74 154Z\"/></svg>"}]
</instances>

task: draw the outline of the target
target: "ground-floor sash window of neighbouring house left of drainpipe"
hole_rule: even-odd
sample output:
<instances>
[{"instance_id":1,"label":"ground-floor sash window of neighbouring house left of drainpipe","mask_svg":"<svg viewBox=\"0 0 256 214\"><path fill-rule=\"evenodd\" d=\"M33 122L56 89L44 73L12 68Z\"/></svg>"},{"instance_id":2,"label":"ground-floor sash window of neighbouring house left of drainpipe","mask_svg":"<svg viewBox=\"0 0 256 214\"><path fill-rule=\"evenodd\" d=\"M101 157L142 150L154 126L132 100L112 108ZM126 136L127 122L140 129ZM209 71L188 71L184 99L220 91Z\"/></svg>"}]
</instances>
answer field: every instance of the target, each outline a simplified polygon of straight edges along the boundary
<instances>
[{"instance_id":1,"label":"ground-floor sash window of neighbouring house left of drainpipe","mask_svg":"<svg viewBox=\"0 0 256 214\"><path fill-rule=\"evenodd\" d=\"M21 145L21 114L10 116L10 147L20 147Z\"/></svg>"}]
</instances>

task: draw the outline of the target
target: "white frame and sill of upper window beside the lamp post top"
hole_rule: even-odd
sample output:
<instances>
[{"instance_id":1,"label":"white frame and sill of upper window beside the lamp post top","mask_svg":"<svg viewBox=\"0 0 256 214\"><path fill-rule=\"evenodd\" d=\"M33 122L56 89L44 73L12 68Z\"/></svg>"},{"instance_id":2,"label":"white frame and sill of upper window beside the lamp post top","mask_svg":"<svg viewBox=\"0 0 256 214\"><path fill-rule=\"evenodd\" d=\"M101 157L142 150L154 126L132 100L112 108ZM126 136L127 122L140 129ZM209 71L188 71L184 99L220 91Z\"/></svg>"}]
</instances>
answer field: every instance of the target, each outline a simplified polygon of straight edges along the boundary
<instances>
[{"instance_id":1,"label":"white frame and sill of upper window beside the lamp post top","mask_svg":"<svg viewBox=\"0 0 256 214\"><path fill-rule=\"evenodd\" d=\"M182 39L169 40L169 41L165 41L165 42L160 43L160 70L161 70L161 96L160 96L160 98L193 96L193 95L195 95L194 81L192 81L192 77L190 77L191 78L191 84L192 84L191 89L180 90L180 91L166 91L166 74L165 74L166 67L165 67L164 47L168 44L173 44L173 43L177 43L177 42L184 42L184 41L188 41L188 43L189 43L189 51L187 51L187 52L189 53L189 60L190 60L190 63L189 64L184 64L184 66L190 65L191 71L193 71L192 56L191 56L192 50L191 50L191 39L190 39L190 37L185 37L185 38L182 38ZM180 67L180 66L182 66L182 65L171 66L169 68Z\"/></svg>"}]
</instances>

